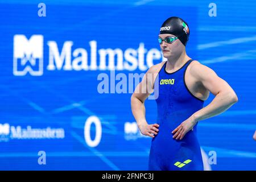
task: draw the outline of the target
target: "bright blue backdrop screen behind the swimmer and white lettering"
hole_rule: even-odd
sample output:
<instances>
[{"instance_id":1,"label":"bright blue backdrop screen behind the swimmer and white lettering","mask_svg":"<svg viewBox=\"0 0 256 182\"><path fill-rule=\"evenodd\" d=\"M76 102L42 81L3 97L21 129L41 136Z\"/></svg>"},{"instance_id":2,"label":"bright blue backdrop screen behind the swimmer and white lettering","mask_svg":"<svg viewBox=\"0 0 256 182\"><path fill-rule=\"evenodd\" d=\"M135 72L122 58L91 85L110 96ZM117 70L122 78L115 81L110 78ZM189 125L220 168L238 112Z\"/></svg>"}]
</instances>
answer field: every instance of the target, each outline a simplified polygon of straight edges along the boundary
<instances>
[{"instance_id":1,"label":"bright blue backdrop screen behind the swimmer and white lettering","mask_svg":"<svg viewBox=\"0 0 256 182\"><path fill-rule=\"evenodd\" d=\"M147 49L144 56L139 59L137 52L134 57L136 62L142 60L144 69L148 69L147 53L151 49L160 51L159 28L170 16L180 16L189 25L188 55L212 68L232 86L239 98L225 113L199 123L201 147L209 158L210 151L217 154L217 163L211 168L256 169L256 141L252 138L256 129L254 1L214 1L216 17L208 15L211 1L44 1L46 17L38 16L39 3L0 1L1 170L147 170L151 139L140 135L134 127L131 93L100 94L97 91L101 82L98 75L106 73L110 77L108 69L99 68L98 50L118 48L125 53L143 44ZM14 56L15 35L24 35L27 40L33 35L43 38L41 76L32 76L31 72L15 75L14 63L21 61ZM89 43L97 42L96 70L47 68L51 49L48 43L55 42L61 53L68 41L73 43L71 61L76 58L75 49L82 48L87 51L89 65L93 56ZM34 46L40 46L40 42L30 49ZM126 57L122 58L124 63ZM108 59L107 56L107 64ZM29 61L26 65L36 70L39 59L36 61L34 67ZM153 64L160 61L162 58L154 59ZM142 67L136 68L115 71L115 74L146 72ZM211 94L205 105L212 99ZM97 128L92 124L86 131L85 122L92 116L98 118L97 125L100 125ZM155 122L154 100L146 101L146 118L149 123ZM43 132L50 127L60 134L51 139L15 137L30 127ZM91 140L97 134L100 140L92 147L84 134ZM39 151L46 152L46 165L38 164Z\"/></svg>"}]
</instances>

